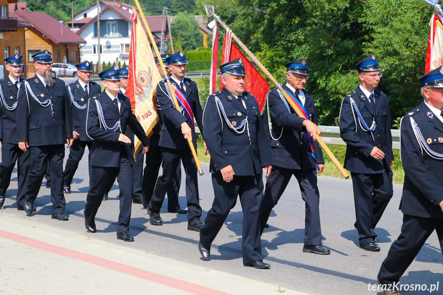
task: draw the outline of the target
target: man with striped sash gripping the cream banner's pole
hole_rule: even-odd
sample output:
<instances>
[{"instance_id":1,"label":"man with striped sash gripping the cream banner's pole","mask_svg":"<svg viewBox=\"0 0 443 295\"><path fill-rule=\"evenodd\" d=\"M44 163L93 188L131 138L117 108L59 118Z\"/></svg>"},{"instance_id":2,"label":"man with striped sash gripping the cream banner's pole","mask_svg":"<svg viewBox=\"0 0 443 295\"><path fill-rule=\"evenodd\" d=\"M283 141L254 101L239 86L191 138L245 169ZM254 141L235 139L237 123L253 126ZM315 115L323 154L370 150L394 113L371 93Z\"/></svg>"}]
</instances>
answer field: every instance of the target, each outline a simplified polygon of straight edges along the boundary
<instances>
[{"instance_id":1,"label":"man with striped sash gripping the cream banner's pole","mask_svg":"<svg viewBox=\"0 0 443 295\"><path fill-rule=\"evenodd\" d=\"M149 203L149 219L152 225L163 224L160 217L160 208L169 186L176 178L177 167L181 159L186 173L187 229L200 231L202 208L199 200L197 167L186 140L189 136L197 149L194 117L200 130L203 130L199 91L194 81L184 77L186 64L189 62L183 52L178 51L172 55L167 55L166 61L171 70L170 82L175 87L176 94L181 93L183 103L187 108L183 109L182 113L177 111L167 84L160 82L157 85L156 99L160 103L164 114L162 135L159 142L162 149L163 174L157 180L156 188Z\"/></svg>"}]
</instances>

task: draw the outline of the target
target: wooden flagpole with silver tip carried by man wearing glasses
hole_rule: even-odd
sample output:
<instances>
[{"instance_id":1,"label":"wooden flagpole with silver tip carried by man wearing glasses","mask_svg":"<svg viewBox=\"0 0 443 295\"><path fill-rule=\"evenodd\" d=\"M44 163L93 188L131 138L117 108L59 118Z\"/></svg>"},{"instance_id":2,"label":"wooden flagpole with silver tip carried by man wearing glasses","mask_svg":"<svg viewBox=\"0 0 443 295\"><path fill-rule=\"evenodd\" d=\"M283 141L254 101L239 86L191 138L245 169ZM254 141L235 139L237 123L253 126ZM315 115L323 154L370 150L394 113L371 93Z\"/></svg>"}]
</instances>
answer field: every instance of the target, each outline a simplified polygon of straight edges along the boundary
<instances>
[{"instance_id":1,"label":"wooden flagpole with silver tip carried by man wearing glasses","mask_svg":"<svg viewBox=\"0 0 443 295\"><path fill-rule=\"evenodd\" d=\"M426 1L434 1L434 2L437 1L438 2L438 0L426 0ZM226 24L221 21L220 16L218 16L217 14L214 13L215 11L214 11L214 6L213 5L206 5L204 3L203 3L203 5L205 7L206 15L208 17L211 17L211 16L214 17L216 22L218 24L220 24L225 30L230 30L226 26ZM283 93L285 100L294 109L294 111L297 113L297 115L299 117L305 118L305 116L296 107L294 101L288 96L286 91L284 91L284 89L281 86L281 84L278 83L278 81L274 78L274 76L271 73L269 73L269 71L259 62L259 60L257 60L257 58L254 56L254 54L251 51L249 51L249 49L247 49L247 47L240 41L240 39L234 33L232 34L232 38L244 50L244 52L249 57L252 58L253 62L263 71L263 73L269 78L269 80L271 80L275 84L275 86L281 91L281 93ZM321 139L320 135L316 134L316 140L319 143L319 145L322 147L322 149L326 152L326 154L329 156L329 158L331 159L332 163L334 163L334 165L337 167L337 169L343 175L344 179L349 179L348 173L346 172L346 170L344 170L343 166L341 166L340 162L338 162L338 160L335 158L334 154L331 152L331 150L328 148L328 146L323 142L323 140Z\"/></svg>"}]
</instances>

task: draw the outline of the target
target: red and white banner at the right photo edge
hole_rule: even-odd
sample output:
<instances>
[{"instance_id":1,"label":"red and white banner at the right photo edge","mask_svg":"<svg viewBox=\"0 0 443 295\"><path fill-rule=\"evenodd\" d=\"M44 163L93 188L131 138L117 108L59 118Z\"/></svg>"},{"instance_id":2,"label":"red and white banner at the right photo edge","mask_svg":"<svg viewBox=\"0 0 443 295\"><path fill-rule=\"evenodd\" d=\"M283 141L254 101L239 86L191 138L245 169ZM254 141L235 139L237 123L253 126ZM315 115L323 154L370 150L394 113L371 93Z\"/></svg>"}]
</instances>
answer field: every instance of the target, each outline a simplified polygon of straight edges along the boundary
<instances>
[{"instance_id":1,"label":"red and white banner at the right photo edge","mask_svg":"<svg viewBox=\"0 0 443 295\"><path fill-rule=\"evenodd\" d=\"M425 74L443 65L443 19L434 13L430 22L428 51L426 53Z\"/></svg>"}]
</instances>

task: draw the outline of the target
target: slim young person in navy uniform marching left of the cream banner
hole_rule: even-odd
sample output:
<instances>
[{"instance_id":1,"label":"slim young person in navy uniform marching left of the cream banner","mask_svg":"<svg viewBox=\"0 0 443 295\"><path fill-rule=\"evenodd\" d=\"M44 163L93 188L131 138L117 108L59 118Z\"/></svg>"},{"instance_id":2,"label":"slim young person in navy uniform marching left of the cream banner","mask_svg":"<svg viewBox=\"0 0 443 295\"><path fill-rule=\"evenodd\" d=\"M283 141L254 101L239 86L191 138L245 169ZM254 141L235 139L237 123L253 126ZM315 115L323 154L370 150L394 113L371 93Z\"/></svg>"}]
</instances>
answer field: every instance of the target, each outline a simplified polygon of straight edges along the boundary
<instances>
[{"instance_id":1,"label":"slim young person in navy uniform marching left of the cream banner","mask_svg":"<svg viewBox=\"0 0 443 295\"><path fill-rule=\"evenodd\" d=\"M129 233L131 218L134 164L131 140L125 135L131 128L143 144L143 153L149 149L149 140L137 117L131 111L131 103L120 93L120 72L110 67L99 73L105 91L88 102L86 130L91 137L91 175L86 196L85 227L96 232L95 215L102 203L103 194L110 179L117 178L120 190L120 214L117 239L132 242Z\"/></svg>"}]
</instances>

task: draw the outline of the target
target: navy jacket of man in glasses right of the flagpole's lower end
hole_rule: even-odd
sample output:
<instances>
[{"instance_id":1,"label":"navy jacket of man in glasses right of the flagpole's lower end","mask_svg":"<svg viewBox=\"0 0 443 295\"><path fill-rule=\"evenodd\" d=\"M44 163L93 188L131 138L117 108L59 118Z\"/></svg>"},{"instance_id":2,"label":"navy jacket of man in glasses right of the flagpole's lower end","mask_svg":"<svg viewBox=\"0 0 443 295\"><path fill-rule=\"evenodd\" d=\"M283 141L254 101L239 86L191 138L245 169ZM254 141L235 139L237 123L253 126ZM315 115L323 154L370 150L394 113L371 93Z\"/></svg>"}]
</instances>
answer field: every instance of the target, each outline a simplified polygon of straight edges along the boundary
<instances>
[{"instance_id":1,"label":"navy jacket of man in glasses right of the flagpole's lower end","mask_svg":"<svg viewBox=\"0 0 443 295\"><path fill-rule=\"evenodd\" d=\"M355 173L375 174L385 171L383 160L394 161L392 153L392 135L391 135L391 112L389 110L388 97L383 92L374 89L377 124L374 132L364 131L351 106L352 98L360 110L364 122L370 128L372 125L373 109L366 95L358 86L353 92L344 96L340 109L340 135L346 143L346 155L344 157L344 168ZM374 146L384 152L384 159L374 159L370 154Z\"/></svg>"}]
</instances>

